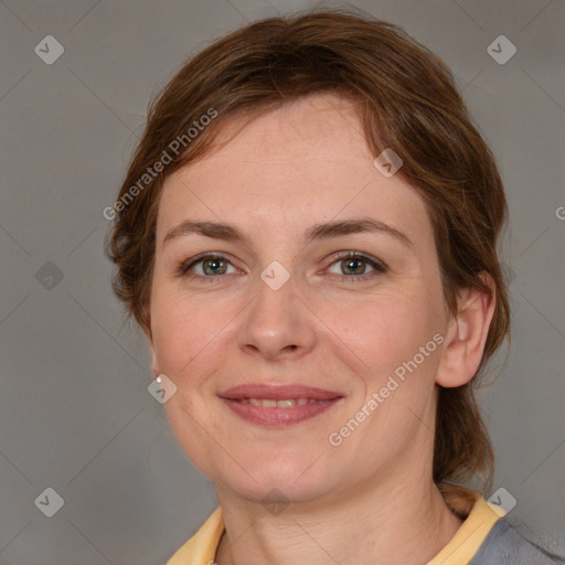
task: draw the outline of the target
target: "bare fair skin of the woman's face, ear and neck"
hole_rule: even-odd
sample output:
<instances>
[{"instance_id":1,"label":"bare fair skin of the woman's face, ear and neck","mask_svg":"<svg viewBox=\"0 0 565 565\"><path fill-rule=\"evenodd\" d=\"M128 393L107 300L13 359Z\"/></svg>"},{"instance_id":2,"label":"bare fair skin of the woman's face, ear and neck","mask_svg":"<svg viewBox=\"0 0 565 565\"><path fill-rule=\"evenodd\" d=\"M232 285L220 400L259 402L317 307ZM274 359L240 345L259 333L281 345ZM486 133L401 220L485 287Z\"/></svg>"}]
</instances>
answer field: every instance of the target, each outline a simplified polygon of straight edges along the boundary
<instances>
[{"instance_id":1,"label":"bare fair skin of the woman's face, ear and neck","mask_svg":"<svg viewBox=\"0 0 565 565\"><path fill-rule=\"evenodd\" d=\"M224 131L237 127L234 119ZM305 245L313 224L360 216L393 226L412 245L386 233ZM163 244L185 220L234 224L248 243L185 234ZM348 250L375 257L387 270L361 263L352 274L339 258ZM192 268L200 277L177 274L203 252L226 255L225 274L206 275L202 263ZM278 290L260 278L274 260L290 275ZM352 282L355 274L364 278ZM168 177L149 345L153 373L178 387L166 403L175 437L215 484L226 527L216 562L417 565L433 558L461 525L431 479L437 384L459 386L473 376L493 306L478 290L461 290L458 316L449 313L423 199L401 174L387 179L373 166L353 106L334 95L260 116ZM441 345L332 446L329 435L437 333ZM343 398L309 420L266 427L217 397L243 383L300 383ZM278 514L262 503L273 488L289 502Z\"/></svg>"}]
</instances>

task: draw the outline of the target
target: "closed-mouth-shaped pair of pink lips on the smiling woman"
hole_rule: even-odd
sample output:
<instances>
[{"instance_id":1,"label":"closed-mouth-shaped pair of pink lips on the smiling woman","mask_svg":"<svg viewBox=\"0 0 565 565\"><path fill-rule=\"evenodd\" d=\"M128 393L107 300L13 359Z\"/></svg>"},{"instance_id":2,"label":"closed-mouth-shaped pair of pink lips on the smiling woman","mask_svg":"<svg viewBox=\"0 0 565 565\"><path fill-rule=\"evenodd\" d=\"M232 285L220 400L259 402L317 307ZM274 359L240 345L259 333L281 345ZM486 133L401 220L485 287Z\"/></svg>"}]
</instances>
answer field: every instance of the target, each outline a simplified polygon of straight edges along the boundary
<instances>
[{"instance_id":1,"label":"closed-mouth-shaped pair of pink lips on the smiling woman","mask_svg":"<svg viewBox=\"0 0 565 565\"><path fill-rule=\"evenodd\" d=\"M326 391L299 384L289 385L238 385L217 394L223 403L237 416L253 424L263 426L288 426L298 424L322 414L334 406L343 395L334 391ZM263 398L282 401L287 398L316 399L316 404L295 405L289 407L254 406L243 403L245 398Z\"/></svg>"}]
</instances>

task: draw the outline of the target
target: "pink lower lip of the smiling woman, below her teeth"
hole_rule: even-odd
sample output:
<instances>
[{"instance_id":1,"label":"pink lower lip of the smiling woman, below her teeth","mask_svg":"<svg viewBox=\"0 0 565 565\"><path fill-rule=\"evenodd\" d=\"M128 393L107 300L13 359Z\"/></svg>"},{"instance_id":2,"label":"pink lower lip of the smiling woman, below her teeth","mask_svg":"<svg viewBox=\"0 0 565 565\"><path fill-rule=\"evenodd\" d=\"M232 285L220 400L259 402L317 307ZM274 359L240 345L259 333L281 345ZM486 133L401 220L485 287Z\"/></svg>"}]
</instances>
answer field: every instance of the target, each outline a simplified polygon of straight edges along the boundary
<instances>
[{"instance_id":1,"label":"pink lower lip of the smiling woman, below her teeth","mask_svg":"<svg viewBox=\"0 0 565 565\"><path fill-rule=\"evenodd\" d=\"M313 418L334 406L340 398L322 401L316 404L302 406L289 406L288 408L254 406L253 404L222 398L224 404L237 416L263 426L290 426L306 419Z\"/></svg>"}]
</instances>

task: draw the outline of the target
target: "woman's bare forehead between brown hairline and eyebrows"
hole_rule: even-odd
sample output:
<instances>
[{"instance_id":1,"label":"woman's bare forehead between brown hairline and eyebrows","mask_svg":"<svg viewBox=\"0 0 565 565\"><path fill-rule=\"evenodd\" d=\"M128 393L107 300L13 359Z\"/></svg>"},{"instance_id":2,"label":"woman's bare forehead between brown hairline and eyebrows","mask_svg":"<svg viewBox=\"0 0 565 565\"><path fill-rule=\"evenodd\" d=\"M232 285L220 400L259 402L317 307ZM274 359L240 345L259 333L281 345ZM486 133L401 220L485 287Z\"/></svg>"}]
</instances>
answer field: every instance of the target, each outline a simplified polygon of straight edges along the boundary
<instances>
[{"instance_id":1,"label":"woman's bare forehead between brown hairline and eyebrows","mask_svg":"<svg viewBox=\"0 0 565 565\"><path fill-rule=\"evenodd\" d=\"M320 94L242 124L227 119L218 149L166 179L158 238L186 216L279 235L361 214L429 230L419 194L374 167L351 102Z\"/></svg>"}]
</instances>

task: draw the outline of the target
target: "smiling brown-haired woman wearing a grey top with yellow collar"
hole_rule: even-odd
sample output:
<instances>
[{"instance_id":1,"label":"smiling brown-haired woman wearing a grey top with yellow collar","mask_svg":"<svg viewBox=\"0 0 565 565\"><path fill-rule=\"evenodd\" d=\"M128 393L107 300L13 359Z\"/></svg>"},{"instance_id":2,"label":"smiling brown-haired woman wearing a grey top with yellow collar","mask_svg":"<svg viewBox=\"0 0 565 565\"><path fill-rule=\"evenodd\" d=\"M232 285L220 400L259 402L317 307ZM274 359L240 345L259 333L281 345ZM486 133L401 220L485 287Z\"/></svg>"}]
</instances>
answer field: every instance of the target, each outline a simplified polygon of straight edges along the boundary
<instances>
[{"instance_id":1,"label":"smiling brown-haired woman wearing a grey top with yellow collar","mask_svg":"<svg viewBox=\"0 0 565 565\"><path fill-rule=\"evenodd\" d=\"M462 484L509 334L507 204L446 65L343 11L253 23L149 111L118 297L220 508L169 565L551 563Z\"/></svg>"}]
</instances>

